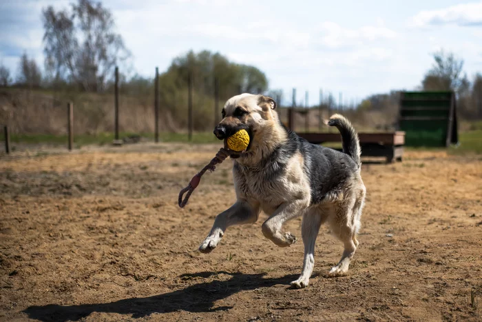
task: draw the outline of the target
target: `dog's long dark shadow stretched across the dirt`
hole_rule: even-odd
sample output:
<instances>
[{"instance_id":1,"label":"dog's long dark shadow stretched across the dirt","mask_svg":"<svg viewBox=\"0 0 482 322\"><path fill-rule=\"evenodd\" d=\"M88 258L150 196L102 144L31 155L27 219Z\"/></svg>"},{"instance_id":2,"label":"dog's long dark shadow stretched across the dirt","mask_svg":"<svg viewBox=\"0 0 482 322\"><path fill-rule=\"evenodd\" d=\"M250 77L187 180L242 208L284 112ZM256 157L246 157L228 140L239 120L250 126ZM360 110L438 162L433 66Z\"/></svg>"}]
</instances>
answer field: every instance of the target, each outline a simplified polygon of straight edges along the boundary
<instances>
[{"instance_id":1,"label":"dog's long dark shadow stretched across the dirt","mask_svg":"<svg viewBox=\"0 0 482 322\"><path fill-rule=\"evenodd\" d=\"M111 303L95 303L82 305L43 305L30 306L23 312L30 319L40 321L78 321L92 312L109 312L131 314L133 318L149 316L153 313L167 313L178 310L188 312L213 312L229 310L232 307L213 308L214 302L225 299L232 294L244 290L254 290L276 284L288 284L295 279L295 275L277 279L264 279L262 274L241 274L228 272L200 272L197 274L183 274L182 279L208 278L213 274L229 274L227 281L209 281L191 285L182 290L159 294L144 298L123 299Z\"/></svg>"}]
</instances>

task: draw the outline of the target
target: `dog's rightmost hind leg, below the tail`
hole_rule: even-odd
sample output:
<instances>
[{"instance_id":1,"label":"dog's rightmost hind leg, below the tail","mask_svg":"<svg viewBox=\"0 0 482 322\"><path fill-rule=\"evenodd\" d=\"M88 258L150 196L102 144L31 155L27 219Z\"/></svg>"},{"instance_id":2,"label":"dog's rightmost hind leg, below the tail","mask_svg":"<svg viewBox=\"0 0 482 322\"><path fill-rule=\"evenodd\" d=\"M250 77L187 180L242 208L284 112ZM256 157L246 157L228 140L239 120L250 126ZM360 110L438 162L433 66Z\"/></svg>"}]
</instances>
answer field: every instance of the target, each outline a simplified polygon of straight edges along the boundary
<instances>
[{"instance_id":1,"label":"dog's rightmost hind leg, below the tail","mask_svg":"<svg viewBox=\"0 0 482 322\"><path fill-rule=\"evenodd\" d=\"M357 233L360 227L360 217L365 199L364 186L357 194L348 200L335 205L335 214L330 219L333 233L344 243L342 259L331 268L329 276L341 276L348 272L350 261L358 247Z\"/></svg>"}]
</instances>

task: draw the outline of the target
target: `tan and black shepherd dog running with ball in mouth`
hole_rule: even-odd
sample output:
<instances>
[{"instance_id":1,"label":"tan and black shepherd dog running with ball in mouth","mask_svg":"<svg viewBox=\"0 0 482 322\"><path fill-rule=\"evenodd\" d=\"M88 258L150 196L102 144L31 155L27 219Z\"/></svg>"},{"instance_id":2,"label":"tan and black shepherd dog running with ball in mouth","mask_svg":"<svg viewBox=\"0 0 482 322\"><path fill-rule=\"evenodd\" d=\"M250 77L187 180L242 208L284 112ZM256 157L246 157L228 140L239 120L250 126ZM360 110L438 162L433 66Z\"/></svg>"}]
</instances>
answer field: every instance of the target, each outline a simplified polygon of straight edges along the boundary
<instances>
[{"instance_id":1,"label":"tan and black shepherd dog running with ball in mouth","mask_svg":"<svg viewBox=\"0 0 482 322\"><path fill-rule=\"evenodd\" d=\"M366 194L360 175L359 140L350 122L335 114L328 125L342 135L343 152L308 143L283 125L275 109L271 97L253 94L232 97L224 105L222 121L214 129L216 137L226 139L244 129L250 142L239 156L231 155L237 201L218 214L199 250L211 252L229 226L255 223L261 210L269 215L262 224L264 237L286 247L297 239L282 230L283 224L303 216L303 269L291 285L306 288L322 223L327 223L344 244L342 259L329 275L346 274L357 249Z\"/></svg>"}]
</instances>

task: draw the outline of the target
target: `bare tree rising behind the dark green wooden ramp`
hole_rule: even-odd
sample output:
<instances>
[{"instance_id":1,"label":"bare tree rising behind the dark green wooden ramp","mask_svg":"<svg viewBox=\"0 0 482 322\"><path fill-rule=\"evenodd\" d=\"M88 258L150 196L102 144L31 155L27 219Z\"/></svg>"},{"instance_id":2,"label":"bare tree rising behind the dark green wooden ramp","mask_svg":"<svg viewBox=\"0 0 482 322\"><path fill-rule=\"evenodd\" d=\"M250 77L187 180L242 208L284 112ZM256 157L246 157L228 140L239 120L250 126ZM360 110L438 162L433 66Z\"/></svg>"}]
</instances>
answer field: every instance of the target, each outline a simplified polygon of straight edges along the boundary
<instances>
[{"instance_id":1,"label":"bare tree rising behind the dark green wooden ramp","mask_svg":"<svg viewBox=\"0 0 482 322\"><path fill-rule=\"evenodd\" d=\"M435 52L433 57L435 62L422 81L423 90L453 90L459 94L468 90L463 59L458 59L452 52L446 54L443 50Z\"/></svg>"}]
</instances>

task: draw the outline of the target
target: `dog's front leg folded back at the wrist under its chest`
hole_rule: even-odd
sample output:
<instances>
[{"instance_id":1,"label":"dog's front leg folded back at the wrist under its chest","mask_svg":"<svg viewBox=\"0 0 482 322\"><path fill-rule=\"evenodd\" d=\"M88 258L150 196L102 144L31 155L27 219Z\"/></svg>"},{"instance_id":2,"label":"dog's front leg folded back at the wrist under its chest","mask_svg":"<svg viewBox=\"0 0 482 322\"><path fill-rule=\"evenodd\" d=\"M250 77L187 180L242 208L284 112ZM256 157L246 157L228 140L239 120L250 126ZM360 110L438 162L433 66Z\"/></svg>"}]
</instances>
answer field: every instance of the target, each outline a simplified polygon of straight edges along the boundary
<instances>
[{"instance_id":1,"label":"dog's front leg folded back at the wrist under its chest","mask_svg":"<svg viewBox=\"0 0 482 322\"><path fill-rule=\"evenodd\" d=\"M262 225L264 237L280 247L286 247L297 241L290 232L282 232L283 224L300 216L309 205L309 200L298 199L290 203L282 203Z\"/></svg>"}]
</instances>

